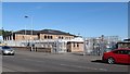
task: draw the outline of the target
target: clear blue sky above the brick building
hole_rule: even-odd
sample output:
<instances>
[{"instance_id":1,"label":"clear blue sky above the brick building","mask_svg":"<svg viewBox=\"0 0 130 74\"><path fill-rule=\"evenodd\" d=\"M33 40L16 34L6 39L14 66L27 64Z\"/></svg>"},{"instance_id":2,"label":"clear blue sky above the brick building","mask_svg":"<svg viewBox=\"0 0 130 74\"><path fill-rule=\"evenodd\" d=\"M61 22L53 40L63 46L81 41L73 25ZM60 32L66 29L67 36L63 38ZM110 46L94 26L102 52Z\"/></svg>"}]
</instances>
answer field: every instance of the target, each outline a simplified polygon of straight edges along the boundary
<instances>
[{"instance_id":1,"label":"clear blue sky above the brick building","mask_svg":"<svg viewBox=\"0 0 130 74\"><path fill-rule=\"evenodd\" d=\"M116 35L126 38L128 3L3 2L2 27L8 30L57 29L83 37Z\"/></svg>"}]
</instances>

